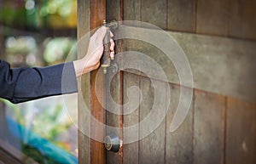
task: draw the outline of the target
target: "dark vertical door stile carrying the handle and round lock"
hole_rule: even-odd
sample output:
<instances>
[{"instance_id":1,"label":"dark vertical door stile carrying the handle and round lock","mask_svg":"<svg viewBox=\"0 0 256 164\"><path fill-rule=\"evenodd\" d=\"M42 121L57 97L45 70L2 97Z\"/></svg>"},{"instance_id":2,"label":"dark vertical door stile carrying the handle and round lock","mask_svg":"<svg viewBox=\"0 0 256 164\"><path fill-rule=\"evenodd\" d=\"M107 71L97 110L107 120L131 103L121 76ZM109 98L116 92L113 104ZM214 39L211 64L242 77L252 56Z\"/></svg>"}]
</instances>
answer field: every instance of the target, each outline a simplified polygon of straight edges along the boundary
<instances>
[{"instance_id":1,"label":"dark vertical door stile carrying the handle and round lock","mask_svg":"<svg viewBox=\"0 0 256 164\"><path fill-rule=\"evenodd\" d=\"M106 7L106 17L107 22L110 22L112 20L120 21L123 19L123 0L107 0L107 7ZM114 31L112 31L114 34ZM121 50L121 41L115 42L115 53L118 54ZM112 63L116 63L116 60L119 60L119 56L115 57L115 60ZM107 89L107 97L106 97L106 103L107 103L107 125L110 127L120 127L122 125L122 108L119 107L116 109L117 105L122 104L122 97L121 93L122 91L122 82L121 82L121 72L117 72L115 75L115 72L112 72L111 70L107 72L107 81L106 86L110 86L110 88ZM113 76L114 75L114 76ZM113 79L110 79L112 78ZM109 90L110 89L110 90ZM108 94L110 92L110 95ZM113 99L113 101L111 100ZM115 105L116 104L116 105ZM118 111L117 111L118 110ZM106 133L116 133L119 135L119 139L122 139L122 129L119 128L115 132L110 130L108 127L106 129ZM115 164L123 162L123 150L122 148L119 150L118 153L113 153L112 151L107 151L107 163Z\"/></svg>"}]
</instances>

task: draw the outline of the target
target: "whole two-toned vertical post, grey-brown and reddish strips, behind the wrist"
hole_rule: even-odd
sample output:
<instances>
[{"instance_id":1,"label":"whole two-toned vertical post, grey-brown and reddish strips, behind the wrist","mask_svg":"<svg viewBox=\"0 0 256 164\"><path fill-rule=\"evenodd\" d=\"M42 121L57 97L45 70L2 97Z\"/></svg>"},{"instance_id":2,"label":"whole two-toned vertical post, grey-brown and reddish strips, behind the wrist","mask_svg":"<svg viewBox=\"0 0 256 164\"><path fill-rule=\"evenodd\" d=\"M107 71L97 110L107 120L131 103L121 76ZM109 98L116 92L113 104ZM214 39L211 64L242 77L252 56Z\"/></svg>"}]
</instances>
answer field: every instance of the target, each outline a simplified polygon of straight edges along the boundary
<instances>
[{"instance_id":1,"label":"whole two-toned vertical post, grey-brown and reddish strips, behind the wrist","mask_svg":"<svg viewBox=\"0 0 256 164\"><path fill-rule=\"evenodd\" d=\"M103 20L106 20L106 0L78 0L78 38L101 26ZM81 58L86 49L82 47L82 44L78 46L78 54ZM96 86L101 93L97 94L95 90L96 76L101 81L100 86ZM104 123L105 111L100 104L104 99L104 92L105 85L102 71L91 71L90 74L79 80L79 163L106 163L104 144L94 140L95 136L101 136L103 139L105 129L96 127L96 122L85 115L83 105L85 103L90 108L91 116ZM86 136L83 133L85 131L90 131L90 136Z\"/></svg>"}]
</instances>

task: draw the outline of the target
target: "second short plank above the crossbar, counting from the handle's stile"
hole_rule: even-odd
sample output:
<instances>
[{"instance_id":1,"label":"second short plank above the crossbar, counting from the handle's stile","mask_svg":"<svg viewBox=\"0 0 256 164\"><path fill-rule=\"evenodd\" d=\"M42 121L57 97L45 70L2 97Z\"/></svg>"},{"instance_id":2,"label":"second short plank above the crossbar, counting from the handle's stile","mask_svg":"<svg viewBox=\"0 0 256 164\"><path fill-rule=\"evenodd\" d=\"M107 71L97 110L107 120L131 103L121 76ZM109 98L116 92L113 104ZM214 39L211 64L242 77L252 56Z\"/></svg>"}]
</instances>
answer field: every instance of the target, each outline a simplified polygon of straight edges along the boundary
<instances>
[{"instance_id":1,"label":"second short plank above the crossbar, counting from the handle's stile","mask_svg":"<svg viewBox=\"0 0 256 164\"><path fill-rule=\"evenodd\" d=\"M141 0L141 14L142 21L148 22L153 25L159 26L162 29L166 29L166 19L167 19L167 10L166 10L166 1L155 1L155 0Z\"/></svg>"}]
</instances>

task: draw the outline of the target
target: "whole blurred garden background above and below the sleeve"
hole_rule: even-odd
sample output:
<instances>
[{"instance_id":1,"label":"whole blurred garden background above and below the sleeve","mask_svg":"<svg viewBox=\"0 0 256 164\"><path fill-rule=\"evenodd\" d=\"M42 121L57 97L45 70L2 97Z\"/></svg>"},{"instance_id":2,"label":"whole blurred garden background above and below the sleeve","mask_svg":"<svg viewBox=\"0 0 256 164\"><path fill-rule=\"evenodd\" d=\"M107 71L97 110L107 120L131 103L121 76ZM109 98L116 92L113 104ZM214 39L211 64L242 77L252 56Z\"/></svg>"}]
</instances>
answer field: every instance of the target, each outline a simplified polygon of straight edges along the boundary
<instances>
[{"instance_id":1,"label":"whole blurred garden background above and below the sleeve","mask_svg":"<svg viewBox=\"0 0 256 164\"><path fill-rule=\"evenodd\" d=\"M13 68L76 59L76 27L76 0L0 0L0 59ZM19 105L0 99L0 154L24 163L78 163L77 95L66 97L66 105L62 96Z\"/></svg>"}]
</instances>

